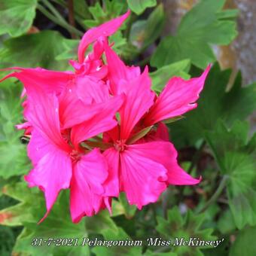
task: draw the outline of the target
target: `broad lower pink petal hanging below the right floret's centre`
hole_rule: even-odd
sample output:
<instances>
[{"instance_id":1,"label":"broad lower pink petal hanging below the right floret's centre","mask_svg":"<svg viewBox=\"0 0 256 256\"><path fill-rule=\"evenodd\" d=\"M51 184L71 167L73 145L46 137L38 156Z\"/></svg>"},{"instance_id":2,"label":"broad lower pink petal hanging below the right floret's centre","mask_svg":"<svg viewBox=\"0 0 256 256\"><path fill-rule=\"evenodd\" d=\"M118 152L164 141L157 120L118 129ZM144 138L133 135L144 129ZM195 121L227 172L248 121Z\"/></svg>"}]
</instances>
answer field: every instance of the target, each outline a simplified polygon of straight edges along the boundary
<instances>
[{"instance_id":1,"label":"broad lower pink petal hanging below the right floret's centre","mask_svg":"<svg viewBox=\"0 0 256 256\"><path fill-rule=\"evenodd\" d=\"M120 154L121 190L126 192L128 202L139 209L148 203L154 203L166 189L166 169L149 157L142 157L133 148L127 148Z\"/></svg>"}]
</instances>

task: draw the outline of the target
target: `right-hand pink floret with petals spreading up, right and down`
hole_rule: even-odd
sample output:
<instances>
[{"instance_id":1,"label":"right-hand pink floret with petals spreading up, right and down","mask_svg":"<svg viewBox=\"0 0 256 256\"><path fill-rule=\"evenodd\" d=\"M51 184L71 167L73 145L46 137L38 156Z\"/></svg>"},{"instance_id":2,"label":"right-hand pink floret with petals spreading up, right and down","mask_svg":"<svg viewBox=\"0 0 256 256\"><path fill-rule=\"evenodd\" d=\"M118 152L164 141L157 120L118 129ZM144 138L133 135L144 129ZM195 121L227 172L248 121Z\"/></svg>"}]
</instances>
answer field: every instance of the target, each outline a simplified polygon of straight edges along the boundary
<instances>
[{"instance_id":1,"label":"right-hand pink floret with petals spreading up, right and down","mask_svg":"<svg viewBox=\"0 0 256 256\"><path fill-rule=\"evenodd\" d=\"M194 102L203 89L209 67L200 78L189 81L172 78L157 97L151 91L148 69L139 75L136 68L124 66L111 48L106 46L105 51L111 90L114 94L125 93L126 96L120 108L119 125L105 134L105 141L112 144L104 152L110 173L105 181L105 194L117 197L120 191L125 191L129 203L142 209L142 206L157 201L168 184L200 182L178 166L177 151L172 143L166 142L167 136L161 138L157 134L158 130L166 134L166 126L162 123L154 135L151 134L151 139L145 137L136 141L133 138L147 126L195 108Z\"/></svg>"}]
</instances>

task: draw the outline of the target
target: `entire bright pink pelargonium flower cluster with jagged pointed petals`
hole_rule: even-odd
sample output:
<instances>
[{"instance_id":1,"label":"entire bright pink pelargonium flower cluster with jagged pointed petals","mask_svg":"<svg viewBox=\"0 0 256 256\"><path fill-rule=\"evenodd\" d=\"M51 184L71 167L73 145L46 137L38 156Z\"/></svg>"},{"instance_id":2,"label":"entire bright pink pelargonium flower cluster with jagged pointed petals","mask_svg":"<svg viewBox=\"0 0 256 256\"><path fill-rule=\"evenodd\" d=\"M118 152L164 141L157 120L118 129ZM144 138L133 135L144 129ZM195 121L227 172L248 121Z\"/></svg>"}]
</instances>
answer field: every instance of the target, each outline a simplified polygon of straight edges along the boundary
<instances>
[{"instance_id":1,"label":"entire bright pink pelargonium flower cluster with jagged pointed petals","mask_svg":"<svg viewBox=\"0 0 256 256\"><path fill-rule=\"evenodd\" d=\"M70 189L72 221L78 222L105 207L111 212L120 192L142 209L169 184L200 182L178 166L163 120L197 107L210 67L199 78L171 78L157 96L148 68L126 66L108 44L129 14L84 34L78 61L70 60L74 72L15 67L2 79L24 85L26 122L17 128L31 138L33 169L25 180L44 192L44 218L63 189Z\"/></svg>"}]
</instances>

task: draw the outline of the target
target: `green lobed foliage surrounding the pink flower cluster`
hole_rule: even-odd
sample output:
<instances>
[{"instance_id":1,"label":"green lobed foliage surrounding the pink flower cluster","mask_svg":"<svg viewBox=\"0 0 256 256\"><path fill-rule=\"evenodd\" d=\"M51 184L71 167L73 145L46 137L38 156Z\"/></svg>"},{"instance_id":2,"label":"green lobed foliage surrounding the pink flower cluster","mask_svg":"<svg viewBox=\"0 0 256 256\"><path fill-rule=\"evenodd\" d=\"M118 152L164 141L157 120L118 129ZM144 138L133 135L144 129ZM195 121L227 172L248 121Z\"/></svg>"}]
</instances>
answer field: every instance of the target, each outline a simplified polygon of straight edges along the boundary
<instances>
[{"instance_id":1,"label":"green lobed foliage surrounding the pink flower cluster","mask_svg":"<svg viewBox=\"0 0 256 256\"><path fill-rule=\"evenodd\" d=\"M14 125L20 123L21 84L0 84L0 254L125 254L125 255L254 255L256 236L256 136L247 117L255 110L256 85L242 87L238 73L231 88L230 70L221 70L213 45L236 38L236 10L223 9L224 0L202 0L181 20L175 35L163 36L165 11L161 1L0 1L0 68L10 66L66 70L75 59L78 38L86 29L117 17L130 8L130 19L111 36L114 49L128 64L148 65L153 88L159 92L169 77L197 76L209 62L214 66L198 108L169 123L187 172L202 175L195 187L169 187L159 202L142 211L129 206L121 194L114 212L101 212L72 224L68 195L63 191L50 216L43 195L28 189L26 145ZM1 73L3 77L5 72ZM63 210L66 208L66 210ZM224 237L218 248L194 247L32 247L33 237Z\"/></svg>"}]
</instances>

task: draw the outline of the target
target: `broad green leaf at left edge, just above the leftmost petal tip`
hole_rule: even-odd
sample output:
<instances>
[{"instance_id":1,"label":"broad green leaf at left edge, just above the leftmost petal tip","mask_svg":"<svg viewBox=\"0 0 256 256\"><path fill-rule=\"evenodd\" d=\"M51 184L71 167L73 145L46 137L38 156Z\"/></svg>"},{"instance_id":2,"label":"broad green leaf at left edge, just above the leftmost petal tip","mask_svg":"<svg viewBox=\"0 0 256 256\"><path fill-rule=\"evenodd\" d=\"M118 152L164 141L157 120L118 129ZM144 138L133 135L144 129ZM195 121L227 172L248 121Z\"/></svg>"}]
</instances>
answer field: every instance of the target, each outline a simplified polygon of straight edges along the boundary
<instances>
[{"instance_id":1,"label":"broad green leaf at left edge, just above the leftmost petal tip","mask_svg":"<svg viewBox=\"0 0 256 256\"><path fill-rule=\"evenodd\" d=\"M64 38L59 32L43 31L4 42L0 49L1 68L11 66L37 67L66 70L68 62L56 61L65 50Z\"/></svg>"}]
</instances>

